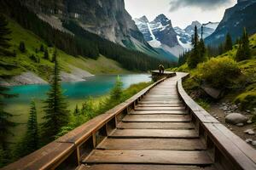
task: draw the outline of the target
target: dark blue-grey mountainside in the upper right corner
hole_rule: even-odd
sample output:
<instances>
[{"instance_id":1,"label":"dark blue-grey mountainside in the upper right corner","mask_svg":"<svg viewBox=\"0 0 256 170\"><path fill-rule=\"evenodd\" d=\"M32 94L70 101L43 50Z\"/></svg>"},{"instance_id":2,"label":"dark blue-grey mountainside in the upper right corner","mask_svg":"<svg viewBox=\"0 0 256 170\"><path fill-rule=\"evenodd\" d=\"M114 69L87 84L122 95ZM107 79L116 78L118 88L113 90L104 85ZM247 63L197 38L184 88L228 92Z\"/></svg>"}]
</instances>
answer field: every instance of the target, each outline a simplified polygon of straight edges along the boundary
<instances>
[{"instance_id":1,"label":"dark blue-grey mountainside in the upper right corner","mask_svg":"<svg viewBox=\"0 0 256 170\"><path fill-rule=\"evenodd\" d=\"M227 8L224 18L221 20L216 31L206 38L207 44L218 45L224 42L225 35L230 33L233 41L241 36L242 29L247 28L249 34L256 32L256 0L238 0L236 5Z\"/></svg>"}]
</instances>

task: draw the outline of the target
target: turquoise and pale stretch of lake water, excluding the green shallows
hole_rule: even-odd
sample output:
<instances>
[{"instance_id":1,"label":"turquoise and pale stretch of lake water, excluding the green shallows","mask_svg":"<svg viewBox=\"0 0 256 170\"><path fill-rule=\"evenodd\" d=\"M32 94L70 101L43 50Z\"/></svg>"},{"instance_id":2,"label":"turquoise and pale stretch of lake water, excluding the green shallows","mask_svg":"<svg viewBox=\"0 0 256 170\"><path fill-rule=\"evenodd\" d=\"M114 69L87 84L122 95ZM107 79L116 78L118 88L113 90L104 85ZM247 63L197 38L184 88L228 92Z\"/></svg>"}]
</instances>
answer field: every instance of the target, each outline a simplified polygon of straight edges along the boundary
<instances>
[{"instance_id":1,"label":"turquoise and pale stretch of lake water, excluding the green shallows","mask_svg":"<svg viewBox=\"0 0 256 170\"><path fill-rule=\"evenodd\" d=\"M138 82L150 82L148 74L129 74L120 75L123 82L123 88L128 88L131 84ZM67 99L86 99L89 96L97 97L108 94L113 88L117 75L102 75L87 77L84 82L62 82L61 87ZM29 104L32 99L45 99L49 85L24 85L13 86L10 88L10 94L19 94L18 98L8 99L8 104Z\"/></svg>"}]
</instances>

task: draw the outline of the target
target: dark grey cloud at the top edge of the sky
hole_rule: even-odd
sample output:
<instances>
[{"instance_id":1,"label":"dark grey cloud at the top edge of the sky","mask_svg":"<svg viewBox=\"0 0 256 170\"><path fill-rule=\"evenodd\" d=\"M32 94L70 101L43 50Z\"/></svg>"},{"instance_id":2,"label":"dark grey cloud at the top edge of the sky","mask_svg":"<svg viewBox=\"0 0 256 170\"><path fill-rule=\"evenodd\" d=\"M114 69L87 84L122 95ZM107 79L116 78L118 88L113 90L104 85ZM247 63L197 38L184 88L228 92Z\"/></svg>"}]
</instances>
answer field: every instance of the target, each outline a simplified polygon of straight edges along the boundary
<instances>
[{"instance_id":1,"label":"dark grey cloud at the top edge of the sky","mask_svg":"<svg viewBox=\"0 0 256 170\"><path fill-rule=\"evenodd\" d=\"M232 0L171 0L170 11L175 11L184 7L197 7L204 10L214 10L219 5L230 3Z\"/></svg>"}]
</instances>

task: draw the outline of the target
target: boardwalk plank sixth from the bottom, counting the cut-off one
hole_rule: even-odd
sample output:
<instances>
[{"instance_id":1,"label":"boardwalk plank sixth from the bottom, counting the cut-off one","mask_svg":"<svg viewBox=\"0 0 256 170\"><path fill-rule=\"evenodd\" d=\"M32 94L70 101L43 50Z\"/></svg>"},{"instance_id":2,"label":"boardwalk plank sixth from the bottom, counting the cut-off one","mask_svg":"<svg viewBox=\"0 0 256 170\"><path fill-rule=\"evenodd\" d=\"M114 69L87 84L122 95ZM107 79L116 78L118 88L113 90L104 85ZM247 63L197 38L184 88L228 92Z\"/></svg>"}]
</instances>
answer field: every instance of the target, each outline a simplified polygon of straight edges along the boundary
<instances>
[{"instance_id":1,"label":"boardwalk plank sixth from the bottom, counting the cut-off one","mask_svg":"<svg viewBox=\"0 0 256 170\"><path fill-rule=\"evenodd\" d=\"M127 115L122 122L190 122L186 115Z\"/></svg>"}]
</instances>

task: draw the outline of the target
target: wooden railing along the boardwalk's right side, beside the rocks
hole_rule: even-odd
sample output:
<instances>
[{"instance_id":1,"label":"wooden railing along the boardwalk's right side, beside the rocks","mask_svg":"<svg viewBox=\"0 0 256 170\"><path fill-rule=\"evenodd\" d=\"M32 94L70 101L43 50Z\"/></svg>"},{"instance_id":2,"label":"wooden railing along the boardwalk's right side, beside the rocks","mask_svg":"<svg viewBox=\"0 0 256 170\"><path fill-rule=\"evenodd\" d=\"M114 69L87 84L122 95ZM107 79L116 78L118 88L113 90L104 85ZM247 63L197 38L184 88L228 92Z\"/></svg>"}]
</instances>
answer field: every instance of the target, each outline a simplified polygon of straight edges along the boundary
<instances>
[{"instance_id":1,"label":"wooden railing along the boardwalk's right side, beside the rocks","mask_svg":"<svg viewBox=\"0 0 256 170\"><path fill-rule=\"evenodd\" d=\"M178 94L187 105L192 121L207 144L208 153L214 160L215 166L223 170L255 170L256 150L197 105L183 89L184 78L186 77L177 82Z\"/></svg>"}]
</instances>

